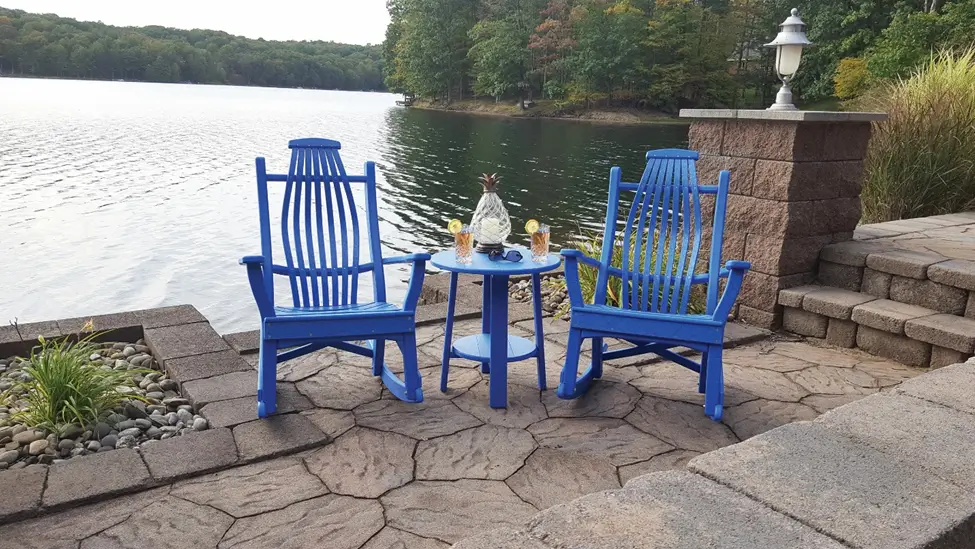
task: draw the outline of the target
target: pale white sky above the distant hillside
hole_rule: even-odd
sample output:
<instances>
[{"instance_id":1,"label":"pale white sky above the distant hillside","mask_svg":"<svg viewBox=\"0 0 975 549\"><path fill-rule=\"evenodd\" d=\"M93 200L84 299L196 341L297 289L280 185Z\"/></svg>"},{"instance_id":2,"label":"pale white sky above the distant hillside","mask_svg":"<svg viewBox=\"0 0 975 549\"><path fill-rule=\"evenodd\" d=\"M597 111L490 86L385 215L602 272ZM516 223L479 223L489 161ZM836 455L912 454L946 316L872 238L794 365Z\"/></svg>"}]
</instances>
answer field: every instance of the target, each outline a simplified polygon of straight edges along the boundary
<instances>
[{"instance_id":1,"label":"pale white sky above the distant hillside","mask_svg":"<svg viewBox=\"0 0 975 549\"><path fill-rule=\"evenodd\" d=\"M386 0L0 0L0 6L108 25L213 29L265 40L378 44Z\"/></svg>"}]
</instances>

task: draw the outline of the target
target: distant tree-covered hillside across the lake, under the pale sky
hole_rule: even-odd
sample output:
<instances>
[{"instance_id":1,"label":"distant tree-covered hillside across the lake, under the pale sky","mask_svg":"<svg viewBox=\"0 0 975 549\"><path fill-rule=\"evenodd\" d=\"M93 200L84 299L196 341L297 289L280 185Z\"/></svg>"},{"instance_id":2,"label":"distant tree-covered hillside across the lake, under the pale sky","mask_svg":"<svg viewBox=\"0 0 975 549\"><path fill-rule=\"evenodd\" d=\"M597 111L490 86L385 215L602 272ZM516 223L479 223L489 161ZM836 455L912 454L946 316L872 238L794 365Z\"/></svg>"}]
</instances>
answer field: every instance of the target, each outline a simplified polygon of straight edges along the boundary
<instances>
[{"instance_id":1,"label":"distant tree-covered hillside across the lake, under the pale sky","mask_svg":"<svg viewBox=\"0 0 975 549\"><path fill-rule=\"evenodd\" d=\"M114 27L0 7L0 75L383 90L382 50Z\"/></svg>"}]
</instances>

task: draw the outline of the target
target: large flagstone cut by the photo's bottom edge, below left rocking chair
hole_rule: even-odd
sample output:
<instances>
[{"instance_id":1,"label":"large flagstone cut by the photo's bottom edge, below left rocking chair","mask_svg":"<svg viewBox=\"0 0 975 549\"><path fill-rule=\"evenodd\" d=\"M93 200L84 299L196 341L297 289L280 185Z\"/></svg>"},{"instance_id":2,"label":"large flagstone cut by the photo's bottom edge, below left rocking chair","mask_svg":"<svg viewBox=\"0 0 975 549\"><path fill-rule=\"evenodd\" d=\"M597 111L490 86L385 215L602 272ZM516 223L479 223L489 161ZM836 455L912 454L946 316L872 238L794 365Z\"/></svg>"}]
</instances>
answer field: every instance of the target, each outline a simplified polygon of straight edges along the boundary
<instances>
[{"instance_id":1,"label":"large flagstone cut by the photo's bottom edge, below left rocking chair","mask_svg":"<svg viewBox=\"0 0 975 549\"><path fill-rule=\"evenodd\" d=\"M382 528L383 508L376 500L329 494L240 519L219 549L358 549Z\"/></svg>"}]
</instances>

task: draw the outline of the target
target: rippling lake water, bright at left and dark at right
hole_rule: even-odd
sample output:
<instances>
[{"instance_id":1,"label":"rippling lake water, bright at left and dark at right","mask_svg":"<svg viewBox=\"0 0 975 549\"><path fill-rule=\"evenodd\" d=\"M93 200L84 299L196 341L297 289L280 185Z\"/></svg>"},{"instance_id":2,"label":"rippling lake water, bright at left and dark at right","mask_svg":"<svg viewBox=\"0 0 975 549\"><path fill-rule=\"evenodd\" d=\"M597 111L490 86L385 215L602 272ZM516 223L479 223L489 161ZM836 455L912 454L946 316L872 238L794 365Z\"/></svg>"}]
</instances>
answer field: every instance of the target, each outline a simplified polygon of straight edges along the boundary
<instances>
[{"instance_id":1,"label":"rippling lake water, bright at left and dark at right","mask_svg":"<svg viewBox=\"0 0 975 549\"><path fill-rule=\"evenodd\" d=\"M0 78L0 322L191 303L221 333L257 328L237 264L260 250L254 158L286 172L297 137L341 141L350 172L378 164L387 255L449 246L444 227L470 219L483 172L503 176L510 241L534 217L564 242L601 226L611 166L635 178L647 150L687 141L682 125L470 116L397 98ZM398 299L408 272L387 273Z\"/></svg>"}]
</instances>

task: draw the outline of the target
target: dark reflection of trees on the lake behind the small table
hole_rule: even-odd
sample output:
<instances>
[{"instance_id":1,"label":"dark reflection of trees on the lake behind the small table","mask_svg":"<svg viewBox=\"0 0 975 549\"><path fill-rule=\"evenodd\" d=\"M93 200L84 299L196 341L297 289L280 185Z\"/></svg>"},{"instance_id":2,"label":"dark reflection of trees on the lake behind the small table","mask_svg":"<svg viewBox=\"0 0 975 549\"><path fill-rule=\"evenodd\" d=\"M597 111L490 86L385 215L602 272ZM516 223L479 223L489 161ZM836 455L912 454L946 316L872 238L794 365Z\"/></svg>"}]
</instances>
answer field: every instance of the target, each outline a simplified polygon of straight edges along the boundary
<instances>
[{"instance_id":1,"label":"dark reflection of trees on the lake behind the small table","mask_svg":"<svg viewBox=\"0 0 975 549\"><path fill-rule=\"evenodd\" d=\"M412 242L449 244L443 227L469 220L480 198L481 173L503 176L501 197L512 217L510 240L536 218L564 242L580 227L600 228L609 170L635 179L646 151L684 147L681 125L603 126L573 121L467 116L422 110L386 113L383 198ZM408 214L408 215L407 215Z\"/></svg>"}]
</instances>

